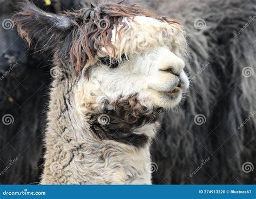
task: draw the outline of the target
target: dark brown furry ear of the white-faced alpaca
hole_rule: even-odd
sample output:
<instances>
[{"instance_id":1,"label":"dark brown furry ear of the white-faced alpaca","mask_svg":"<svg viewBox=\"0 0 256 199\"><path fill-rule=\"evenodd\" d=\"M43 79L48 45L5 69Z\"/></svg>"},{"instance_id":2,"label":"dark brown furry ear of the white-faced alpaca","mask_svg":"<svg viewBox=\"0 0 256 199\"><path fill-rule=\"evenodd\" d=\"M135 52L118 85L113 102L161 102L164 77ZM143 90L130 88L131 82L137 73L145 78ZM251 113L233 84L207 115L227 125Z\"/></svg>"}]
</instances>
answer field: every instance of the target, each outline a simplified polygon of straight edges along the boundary
<instances>
[{"instance_id":1,"label":"dark brown furry ear of the white-faced alpaca","mask_svg":"<svg viewBox=\"0 0 256 199\"><path fill-rule=\"evenodd\" d=\"M44 12L30 2L20 3L19 8L13 17L19 34L29 45L35 42L44 50L56 47L73 25L68 16Z\"/></svg>"}]
</instances>

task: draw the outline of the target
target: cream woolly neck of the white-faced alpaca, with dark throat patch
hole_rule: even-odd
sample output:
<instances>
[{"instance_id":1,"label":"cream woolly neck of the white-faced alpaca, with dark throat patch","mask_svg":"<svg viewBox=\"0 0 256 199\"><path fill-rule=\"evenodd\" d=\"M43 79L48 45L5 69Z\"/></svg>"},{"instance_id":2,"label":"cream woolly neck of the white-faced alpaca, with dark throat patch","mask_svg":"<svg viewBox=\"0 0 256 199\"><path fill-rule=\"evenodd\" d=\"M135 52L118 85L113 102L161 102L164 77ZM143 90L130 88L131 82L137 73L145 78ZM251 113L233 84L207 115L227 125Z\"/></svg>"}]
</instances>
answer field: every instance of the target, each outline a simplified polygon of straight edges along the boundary
<instances>
[{"instance_id":1,"label":"cream woolly neck of the white-faced alpaca, with dark throat patch","mask_svg":"<svg viewBox=\"0 0 256 199\"><path fill-rule=\"evenodd\" d=\"M132 111L129 106L105 113L83 109L87 102L80 104L78 84L53 82L42 183L150 184L150 141L156 123L120 123L122 114ZM110 123L100 123L100 116L109 117Z\"/></svg>"}]
</instances>

